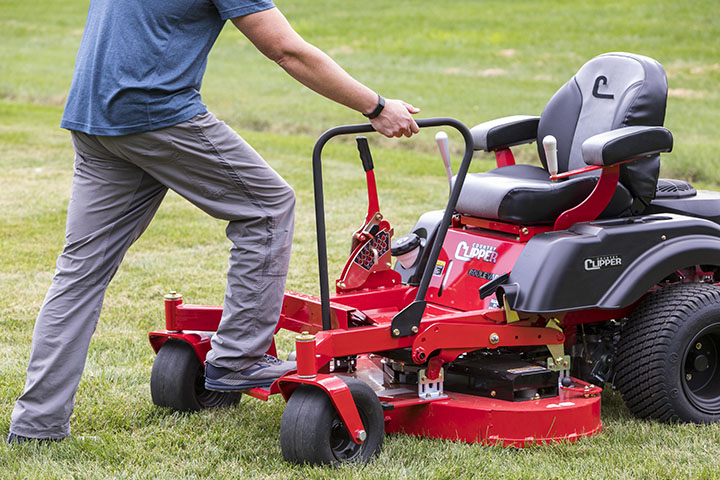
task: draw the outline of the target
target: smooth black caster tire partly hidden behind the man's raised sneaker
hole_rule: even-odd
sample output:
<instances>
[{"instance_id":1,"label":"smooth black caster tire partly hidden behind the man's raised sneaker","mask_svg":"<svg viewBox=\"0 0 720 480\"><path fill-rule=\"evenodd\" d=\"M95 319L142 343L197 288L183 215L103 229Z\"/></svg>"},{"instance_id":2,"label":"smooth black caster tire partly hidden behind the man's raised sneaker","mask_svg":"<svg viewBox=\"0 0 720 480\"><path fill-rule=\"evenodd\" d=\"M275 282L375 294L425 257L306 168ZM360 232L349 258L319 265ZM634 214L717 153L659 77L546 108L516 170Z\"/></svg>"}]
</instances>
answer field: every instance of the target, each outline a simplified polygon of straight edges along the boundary
<instances>
[{"instance_id":1,"label":"smooth black caster tire partly hidden behind the man's raised sneaker","mask_svg":"<svg viewBox=\"0 0 720 480\"><path fill-rule=\"evenodd\" d=\"M229 407L240 401L239 392L215 392L205 388L202 363L190 345L168 340L160 348L150 376L150 393L158 407L180 412Z\"/></svg>"}]
</instances>

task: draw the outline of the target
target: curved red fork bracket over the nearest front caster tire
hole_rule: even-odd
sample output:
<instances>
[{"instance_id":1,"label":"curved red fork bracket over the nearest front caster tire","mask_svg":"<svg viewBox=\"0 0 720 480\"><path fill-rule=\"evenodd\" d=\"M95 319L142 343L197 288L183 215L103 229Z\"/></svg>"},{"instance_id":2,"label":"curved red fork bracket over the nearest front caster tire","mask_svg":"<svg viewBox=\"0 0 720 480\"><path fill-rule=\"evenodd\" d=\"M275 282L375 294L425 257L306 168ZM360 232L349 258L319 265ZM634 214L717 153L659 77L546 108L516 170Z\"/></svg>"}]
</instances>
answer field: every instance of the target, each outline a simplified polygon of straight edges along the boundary
<instances>
[{"instance_id":1,"label":"curved red fork bracket over the nearest front caster tire","mask_svg":"<svg viewBox=\"0 0 720 480\"><path fill-rule=\"evenodd\" d=\"M333 402L335 409L340 415L340 419L345 424L350 437L357 444L361 444L361 432L365 430L360 420L355 401L350 393L347 384L334 375L318 374L314 378L301 378L298 375L286 375L276 382L282 392L285 401L290 399L292 392L300 384L313 385L322 389L328 394ZM274 386L274 385L273 385Z\"/></svg>"}]
</instances>

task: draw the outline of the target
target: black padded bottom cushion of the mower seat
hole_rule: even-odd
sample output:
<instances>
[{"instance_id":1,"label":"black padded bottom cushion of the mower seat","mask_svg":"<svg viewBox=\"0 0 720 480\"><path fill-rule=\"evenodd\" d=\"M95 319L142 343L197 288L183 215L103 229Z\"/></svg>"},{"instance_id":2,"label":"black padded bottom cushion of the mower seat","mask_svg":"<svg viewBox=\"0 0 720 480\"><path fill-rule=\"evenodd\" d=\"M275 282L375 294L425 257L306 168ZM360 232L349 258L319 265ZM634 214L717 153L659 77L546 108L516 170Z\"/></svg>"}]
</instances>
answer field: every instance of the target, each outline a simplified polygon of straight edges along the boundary
<instances>
[{"instance_id":1,"label":"black padded bottom cushion of the mower seat","mask_svg":"<svg viewBox=\"0 0 720 480\"><path fill-rule=\"evenodd\" d=\"M597 183L597 175L581 175L552 182L547 171L533 165L509 165L469 174L455 210L474 217L523 225L552 224L580 204ZM618 184L602 217L629 214L630 192Z\"/></svg>"}]
</instances>

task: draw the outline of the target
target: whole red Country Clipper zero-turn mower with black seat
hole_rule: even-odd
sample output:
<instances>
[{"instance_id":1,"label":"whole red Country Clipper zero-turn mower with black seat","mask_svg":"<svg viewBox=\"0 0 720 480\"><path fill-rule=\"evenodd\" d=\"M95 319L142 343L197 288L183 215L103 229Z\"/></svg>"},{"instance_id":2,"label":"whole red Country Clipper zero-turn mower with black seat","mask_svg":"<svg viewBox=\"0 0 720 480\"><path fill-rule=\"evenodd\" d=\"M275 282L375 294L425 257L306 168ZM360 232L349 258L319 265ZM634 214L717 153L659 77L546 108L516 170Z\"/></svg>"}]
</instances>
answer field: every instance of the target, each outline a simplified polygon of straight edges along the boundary
<instances>
[{"instance_id":1,"label":"whole red Country Clipper zero-turn mower with black seat","mask_svg":"<svg viewBox=\"0 0 720 480\"><path fill-rule=\"evenodd\" d=\"M391 242L367 140L358 148L369 208L328 287L321 152L313 152L320 297L286 292L279 329L297 332L297 372L246 393L287 401L288 461L368 460L406 433L522 447L598 433L601 387L661 421L720 418L720 195L658 180L667 80L656 61L610 53L586 63L540 117L468 130L445 211ZM538 142L543 168L510 147ZM473 150L497 168L467 174ZM391 256L397 257L393 267ZM220 307L166 296L152 332L157 405L198 410L238 401L204 389ZM275 346L269 353L275 354Z\"/></svg>"}]
</instances>

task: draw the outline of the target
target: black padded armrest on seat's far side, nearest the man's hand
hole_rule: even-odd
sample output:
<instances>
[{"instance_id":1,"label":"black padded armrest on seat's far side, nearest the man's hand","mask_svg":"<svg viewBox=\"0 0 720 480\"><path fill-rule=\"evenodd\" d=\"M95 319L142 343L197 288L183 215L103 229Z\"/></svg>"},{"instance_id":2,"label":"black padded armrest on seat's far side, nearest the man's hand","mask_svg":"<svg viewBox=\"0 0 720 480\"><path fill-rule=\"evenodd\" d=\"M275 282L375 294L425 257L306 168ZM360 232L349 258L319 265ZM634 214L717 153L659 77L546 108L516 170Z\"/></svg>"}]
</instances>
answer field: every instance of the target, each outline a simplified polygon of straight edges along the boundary
<instances>
[{"instance_id":1,"label":"black padded armrest on seat's far side, nearest the man's hand","mask_svg":"<svg viewBox=\"0 0 720 480\"><path fill-rule=\"evenodd\" d=\"M540 117L513 115L490 120L470 129L475 150L492 152L502 148L532 143L537 137Z\"/></svg>"}]
</instances>

